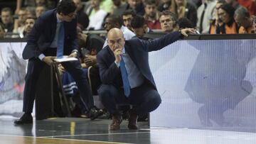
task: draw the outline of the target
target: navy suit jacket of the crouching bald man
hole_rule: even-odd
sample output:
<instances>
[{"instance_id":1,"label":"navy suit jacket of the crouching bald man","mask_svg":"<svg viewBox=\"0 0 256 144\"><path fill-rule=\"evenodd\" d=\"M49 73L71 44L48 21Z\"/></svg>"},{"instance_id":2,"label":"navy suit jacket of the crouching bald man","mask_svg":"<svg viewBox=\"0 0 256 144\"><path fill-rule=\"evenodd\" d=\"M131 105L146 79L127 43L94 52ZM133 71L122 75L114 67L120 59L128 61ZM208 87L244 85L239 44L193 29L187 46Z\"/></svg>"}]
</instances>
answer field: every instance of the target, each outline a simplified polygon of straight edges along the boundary
<instances>
[{"instance_id":1,"label":"navy suit jacket of the crouching bald man","mask_svg":"<svg viewBox=\"0 0 256 144\"><path fill-rule=\"evenodd\" d=\"M148 80L156 89L154 78L149 68L149 54L148 52L161 50L167 45L174 43L183 36L178 31L169 33L161 38L154 40L139 40L139 38L133 38L125 41L125 52L131 57L134 64L137 66L143 76ZM109 46L106 46L97 54L97 62L100 67L100 78L102 84L113 84L117 87L122 86L121 73L117 65L114 63L115 57Z\"/></svg>"}]
</instances>

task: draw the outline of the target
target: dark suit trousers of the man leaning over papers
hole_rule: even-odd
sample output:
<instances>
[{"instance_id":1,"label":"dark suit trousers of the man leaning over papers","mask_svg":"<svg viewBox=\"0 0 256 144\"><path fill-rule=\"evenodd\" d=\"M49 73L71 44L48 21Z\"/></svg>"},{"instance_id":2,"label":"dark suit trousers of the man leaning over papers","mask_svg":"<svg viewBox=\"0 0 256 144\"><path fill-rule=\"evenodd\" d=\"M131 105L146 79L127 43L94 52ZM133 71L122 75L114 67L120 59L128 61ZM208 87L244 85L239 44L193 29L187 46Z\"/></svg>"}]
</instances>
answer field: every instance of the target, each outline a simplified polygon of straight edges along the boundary
<instances>
[{"instance_id":1,"label":"dark suit trousers of the man leaning over papers","mask_svg":"<svg viewBox=\"0 0 256 144\"><path fill-rule=\"evenodd\" d=\"M55 55L55 50L50 51L53 52L46 52L44 54L46 56ZM82 111L89 111L93 106L93 97L90 86L87 82L87 76L84 74L84 72L82 72L80 62L62 62L61 64L63 67L65 67L65 70L71 74L78 85L80 98L82 103L85 104L85 109ZM38 77L46 65L46 62L41 61L39 58L33 57L28 60L28 72L25 77L25 88L23 93L23 111L26 113L31 113L33 111L33 103L36 97L36 85L38 82Z\"/></svg>"}]
</instances>

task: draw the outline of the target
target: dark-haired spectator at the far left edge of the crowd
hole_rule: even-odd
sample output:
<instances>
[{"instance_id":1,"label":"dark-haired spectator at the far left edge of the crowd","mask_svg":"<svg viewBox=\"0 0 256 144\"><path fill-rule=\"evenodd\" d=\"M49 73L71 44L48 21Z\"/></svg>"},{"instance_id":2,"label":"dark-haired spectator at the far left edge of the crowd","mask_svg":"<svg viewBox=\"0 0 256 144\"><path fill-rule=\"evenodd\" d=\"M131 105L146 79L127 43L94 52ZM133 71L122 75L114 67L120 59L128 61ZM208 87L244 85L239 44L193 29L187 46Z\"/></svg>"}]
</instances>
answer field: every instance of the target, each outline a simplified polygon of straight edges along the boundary
<instances>
[{"instance_id":1,"label":"dark-haired spectator at the far left edge of the crowd","mask_svg":"<svg viewBox=\"0 0 256 144\"><path fill-rule=\"evenodd\" d=\"M1 26L5 32L12 32L14 30L13 14L8 7L1 9Z\"/></svg>"}]
</instances>

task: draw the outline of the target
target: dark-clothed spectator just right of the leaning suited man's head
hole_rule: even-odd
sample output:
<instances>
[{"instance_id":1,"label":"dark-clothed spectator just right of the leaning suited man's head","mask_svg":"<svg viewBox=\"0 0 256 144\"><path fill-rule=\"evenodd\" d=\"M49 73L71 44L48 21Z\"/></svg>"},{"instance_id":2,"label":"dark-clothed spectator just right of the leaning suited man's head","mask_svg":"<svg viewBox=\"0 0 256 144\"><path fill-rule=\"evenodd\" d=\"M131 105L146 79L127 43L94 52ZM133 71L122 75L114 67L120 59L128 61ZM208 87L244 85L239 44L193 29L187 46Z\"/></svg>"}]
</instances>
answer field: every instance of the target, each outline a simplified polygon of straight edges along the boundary
<instances>
[{"instance_id":1,"label":"dark-clothed spectator just right of the leaning suited man's head","mask_svg":"<svg viewBox=\"0 0 256 144\"><path fill-rule=\"evenodd\" d=\"M81 0L73 0L75 3L77 17L78 17L78 25L81 25L83 28L87 28L89 25L89 18L87 14L83 11L84 5L82 4Z\"/></svg>"}]
</instances>

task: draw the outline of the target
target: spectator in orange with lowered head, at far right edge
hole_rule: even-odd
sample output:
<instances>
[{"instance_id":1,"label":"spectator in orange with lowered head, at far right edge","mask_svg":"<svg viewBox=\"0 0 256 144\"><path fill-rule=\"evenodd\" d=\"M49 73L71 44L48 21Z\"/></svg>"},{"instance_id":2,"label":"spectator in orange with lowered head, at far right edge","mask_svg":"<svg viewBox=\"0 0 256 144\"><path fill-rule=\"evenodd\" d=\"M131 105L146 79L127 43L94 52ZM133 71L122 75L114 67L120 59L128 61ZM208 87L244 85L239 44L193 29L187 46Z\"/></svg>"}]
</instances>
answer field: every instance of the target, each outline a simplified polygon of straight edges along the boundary
<instances>
[{"instance_id":1,"label":"spectator in orange with lowered head, at far right edge","mask_svg":"<svg viewBox=\"0 0 256 144\"><path fill-rule=\"evenodd\" d=\"M238 23L239 33L256 33L256 16L250 16L250 12L243 6L235 10L235 22Z\"/></svg>"}]
</instances>

